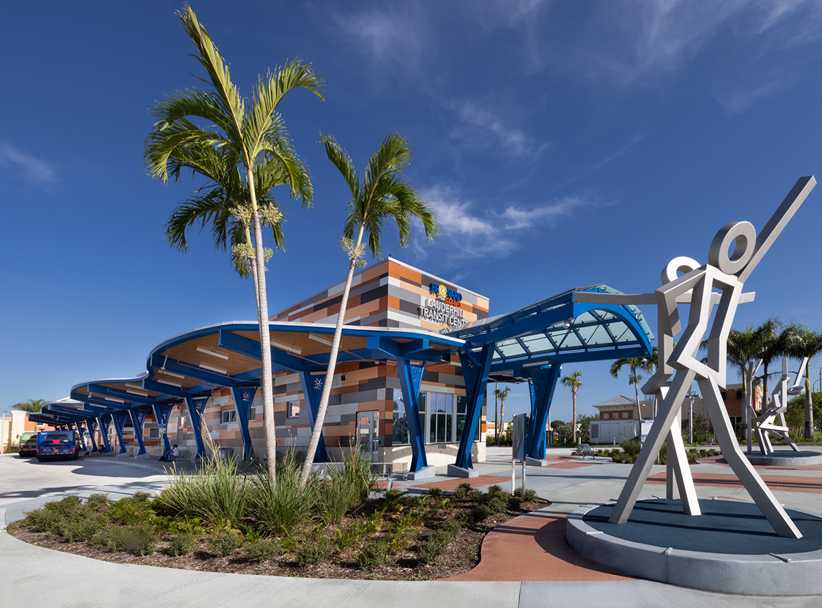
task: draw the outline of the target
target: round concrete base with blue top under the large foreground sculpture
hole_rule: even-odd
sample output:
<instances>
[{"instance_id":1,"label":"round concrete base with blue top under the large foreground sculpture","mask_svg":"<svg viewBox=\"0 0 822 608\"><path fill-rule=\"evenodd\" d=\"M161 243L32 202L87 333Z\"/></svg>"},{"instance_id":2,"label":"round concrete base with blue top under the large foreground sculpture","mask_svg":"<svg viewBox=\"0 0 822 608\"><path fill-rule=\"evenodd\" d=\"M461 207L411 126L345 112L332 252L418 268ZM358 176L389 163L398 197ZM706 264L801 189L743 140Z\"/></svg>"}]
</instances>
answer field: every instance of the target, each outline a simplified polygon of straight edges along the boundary
<instances>
[{"instance_id":1,"label":"round concrete base with blue top under the large foreground sculpture","mask_svg":"<svg viewBox=\"0 0 822 608\"><path fill-rule=\"evenodd\" d=\"M822 514L786 509L802 538L778 537L756 504L639 500L626 523L608 523L614 503L568 516L566 541L600 564L640 578L744 595L822 594Z\"/></svg>"}]
</instances>

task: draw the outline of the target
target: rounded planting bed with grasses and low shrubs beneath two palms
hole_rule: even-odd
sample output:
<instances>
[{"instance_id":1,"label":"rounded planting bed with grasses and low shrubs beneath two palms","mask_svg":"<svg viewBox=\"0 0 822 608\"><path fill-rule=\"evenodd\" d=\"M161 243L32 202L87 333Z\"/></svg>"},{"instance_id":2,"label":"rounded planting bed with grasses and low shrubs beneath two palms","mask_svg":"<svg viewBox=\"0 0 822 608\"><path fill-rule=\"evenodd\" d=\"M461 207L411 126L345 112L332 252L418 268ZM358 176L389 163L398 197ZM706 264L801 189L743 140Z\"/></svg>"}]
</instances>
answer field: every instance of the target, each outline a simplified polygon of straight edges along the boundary
<instances>
[{"instance_id":1,"label":"rounded planting bed with grasses and low shrubs beneath two palms","mask_svg":"<svg viewBox=\"0 0 822 608\"><path fill-rule=\"evenodd\" d=\"M17 538L99 560L212 572L321 578L414 580L472 569L493 527L539 509L533 491L516 495L463 484L425 495L387 491L368 498L374 478L358 458L328 477L296 482L284 463L272 488L265 472L213 463L178 475L152 498L113 502L68 496L7 529Z\"/></svg>"}]
</instances>

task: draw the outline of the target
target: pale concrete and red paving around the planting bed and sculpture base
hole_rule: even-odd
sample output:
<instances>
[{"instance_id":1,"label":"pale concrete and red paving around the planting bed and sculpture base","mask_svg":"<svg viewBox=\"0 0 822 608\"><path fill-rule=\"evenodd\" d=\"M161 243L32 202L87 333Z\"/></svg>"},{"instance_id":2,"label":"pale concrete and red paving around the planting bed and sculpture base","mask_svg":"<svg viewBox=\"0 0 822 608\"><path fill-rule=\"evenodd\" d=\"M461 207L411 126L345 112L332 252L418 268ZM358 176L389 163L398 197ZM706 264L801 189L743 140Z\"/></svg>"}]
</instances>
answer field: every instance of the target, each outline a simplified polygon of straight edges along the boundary
<instances>
[{"instance_id":1,"label":"pale concrete and red paving around the planting bed and sculpture base","mask_svg":"<svg viewBox=\"0 0 822 608\"><path fill-rule=\"evenodd\" d=\"M108 492L113 499L136 491L156 492L167 481L164 463L109 456L76 462L38 463L0 457L0 596L17 606L36 598L51 606L820 606L822 597L751 597L701 592L643 581L587 560L566 545L565 518L582 504L615 500L630 465L603 458L571 457L549 449L547 467L529 467L526 486L551 506L511 520L489 533L477 567L446 581L383 582L279 578L193 572L111 564L30 546L5 532L5 524L64 495ZM182 466L192 468L189 463ZM475 464L476 487L510 487L510 449L488 449ZM822 511L822 465L758 468L777 499L788 507ZM692 467L697 493L748 500L731 469L716 458ZM410 492L466 480L394 481ZM664 495L664 467L653 468L642 497ZM520 485L520 467L516 468Z\"/></svg>"}]
</instances>

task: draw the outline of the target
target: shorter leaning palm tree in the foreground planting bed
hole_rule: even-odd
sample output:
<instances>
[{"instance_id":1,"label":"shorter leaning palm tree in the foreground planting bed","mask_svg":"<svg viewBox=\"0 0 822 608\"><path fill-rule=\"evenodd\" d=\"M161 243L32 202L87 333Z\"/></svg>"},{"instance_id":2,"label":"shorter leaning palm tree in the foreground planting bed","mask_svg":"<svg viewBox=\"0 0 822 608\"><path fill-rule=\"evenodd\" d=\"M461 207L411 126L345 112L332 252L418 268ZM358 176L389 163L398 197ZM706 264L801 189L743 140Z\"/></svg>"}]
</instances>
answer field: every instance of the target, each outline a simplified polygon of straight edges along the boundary
<instances>
[{"instance_id":1,"label":"shorter leaning palm tree in the foreground planting bed","mask_svg":"<svg viewBox=\"0 0 822 608\"><path fill-rule=\"evenodd\" d=\"M311 472L312 463L320 442L323 421L326 419L331 380L334 378L339 352L339 339L343 333L345 309L349 302L349 291L354 269L364 265L367 239L372 258L381 257L380 240L386 222L393 221L399 228L399 246L408 246L411 238L411 220L417 218L423 223L425 236L431 241L438 233L436 216L430 205L420 199L417 191L404 180L403 169L411 164L411 150L408 141L397 133L390 133L377 147L368 161L362 180L353 167L353 161L333 137L322 135L326 154L343 176L351 192L349 215L343 227L343 248L349 256L349 274L345 279L342 301L339 302L337 325L323 383L320 405L308 443L308 452L300 474L300 484L305 485ZM355 240L356 239L356 240Z\"/></svg>"}]
</instances>

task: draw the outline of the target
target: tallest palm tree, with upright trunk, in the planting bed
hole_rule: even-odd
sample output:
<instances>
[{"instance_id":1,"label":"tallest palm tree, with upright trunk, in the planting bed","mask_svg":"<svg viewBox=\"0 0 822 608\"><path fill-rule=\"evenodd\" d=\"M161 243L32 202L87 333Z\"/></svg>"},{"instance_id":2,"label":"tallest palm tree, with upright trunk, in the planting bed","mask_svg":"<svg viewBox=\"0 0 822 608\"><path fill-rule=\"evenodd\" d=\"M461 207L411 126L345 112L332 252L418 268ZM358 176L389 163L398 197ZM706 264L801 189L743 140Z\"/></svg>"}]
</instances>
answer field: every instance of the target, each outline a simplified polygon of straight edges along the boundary
<instances>
[{"instance_id":1,"label":"tallest palm tree, with upright trunk, in the planting bed","mask_svg":"<svg viewBox=\"0 0 822 608\"><path fill-rule=\"evenodd\" d=\"M145 140L145 165L162 182L168 182L169 174L179 179L182 170L207 180L166 224L172 246L186 251L186 229L195 223L204 228L210 222L215 245L224 249L230 238L235 266L240 274L251 274L254 279L266 457L273 484L276 434L265 274L271 252L263 246L262 226L274 228L275 244L282 246L282 214L270 196L275 186L288 185L290 196L302 198L303 205L311 203L307 169L291 148L277 106L284 94L300 87L322 99L322 80L311 66L289 62L273 75L260 76L249 102L231 81L228 65L192 8L186 5L178 16L196 46L195 57L205 67L208 78L204 81L213 90L178 91L151 109L158 120Z\"/></svg>"}]
</instances>

